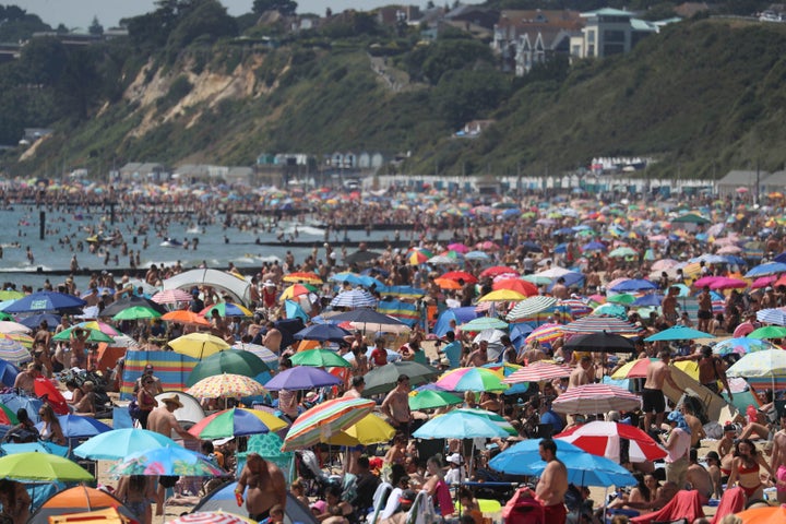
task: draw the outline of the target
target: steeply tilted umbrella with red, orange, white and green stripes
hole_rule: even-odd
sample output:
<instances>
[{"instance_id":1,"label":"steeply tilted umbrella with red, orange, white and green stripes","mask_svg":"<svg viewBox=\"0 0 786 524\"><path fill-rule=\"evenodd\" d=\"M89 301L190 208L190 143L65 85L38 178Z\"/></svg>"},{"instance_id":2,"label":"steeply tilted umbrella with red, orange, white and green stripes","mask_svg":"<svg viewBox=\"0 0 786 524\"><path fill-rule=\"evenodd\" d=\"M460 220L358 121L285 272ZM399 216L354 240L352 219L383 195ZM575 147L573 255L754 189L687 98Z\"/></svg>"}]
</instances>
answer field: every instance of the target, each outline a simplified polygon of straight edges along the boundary
<instances>
[{"instance_id":1,"label":"steeply tilted umbrella with red, orange, white and green stripes","mask_svg":"<svg viewBox=\"0 0 786 524\"><path fill-rule=\"evenodd\" d=\"M302 413L284 438L282 451L327 442L333 433L359 422L377 403L366 398L333 398Z\"/></svg>"}]
</instances>

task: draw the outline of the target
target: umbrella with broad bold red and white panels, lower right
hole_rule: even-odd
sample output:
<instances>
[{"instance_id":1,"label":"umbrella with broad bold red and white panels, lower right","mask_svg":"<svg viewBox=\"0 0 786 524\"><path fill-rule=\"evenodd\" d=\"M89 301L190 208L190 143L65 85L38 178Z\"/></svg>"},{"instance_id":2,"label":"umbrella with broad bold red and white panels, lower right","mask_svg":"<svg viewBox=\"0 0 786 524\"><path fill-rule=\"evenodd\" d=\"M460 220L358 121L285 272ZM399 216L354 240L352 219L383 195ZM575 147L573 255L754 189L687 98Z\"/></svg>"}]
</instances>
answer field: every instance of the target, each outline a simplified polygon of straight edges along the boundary
<instances>
[{"instance_id":1,"label":"umbrella with broad bold red and white panels, lower right","mask_svg":"<svg viewBox=\"0 0 786 524\"><path fill-rule=\"evenodd\" d=\"M587 453L620 462L620 441L629 442L630 462L652 462L666 456L652 437L628 424L595 421L576 426L555 437L581 448Z\"/></svg>"}]
</instances>

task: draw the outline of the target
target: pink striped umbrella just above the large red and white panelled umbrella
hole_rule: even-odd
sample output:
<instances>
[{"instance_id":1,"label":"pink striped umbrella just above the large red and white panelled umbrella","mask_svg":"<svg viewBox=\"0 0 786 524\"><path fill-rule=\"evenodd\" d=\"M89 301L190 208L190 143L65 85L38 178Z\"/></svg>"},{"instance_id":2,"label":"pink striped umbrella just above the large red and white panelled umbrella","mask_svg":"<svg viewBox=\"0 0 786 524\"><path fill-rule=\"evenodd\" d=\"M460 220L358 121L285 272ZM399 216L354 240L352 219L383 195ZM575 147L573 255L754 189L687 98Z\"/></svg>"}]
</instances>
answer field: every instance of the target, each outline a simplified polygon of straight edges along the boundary
<instances>
[{"instance_id":1,"label":"pink striped umbrella just above the large red and white panelled umbrella","mask_svg":"<svg viewBox=\"0 0 786 524\"><path fill-rule=\"evenodd\" d=\"M565 391L551 405L557 413L592 415L636 409L641 397L617 385L584 384Z\"/></svg>"}]
</instances>

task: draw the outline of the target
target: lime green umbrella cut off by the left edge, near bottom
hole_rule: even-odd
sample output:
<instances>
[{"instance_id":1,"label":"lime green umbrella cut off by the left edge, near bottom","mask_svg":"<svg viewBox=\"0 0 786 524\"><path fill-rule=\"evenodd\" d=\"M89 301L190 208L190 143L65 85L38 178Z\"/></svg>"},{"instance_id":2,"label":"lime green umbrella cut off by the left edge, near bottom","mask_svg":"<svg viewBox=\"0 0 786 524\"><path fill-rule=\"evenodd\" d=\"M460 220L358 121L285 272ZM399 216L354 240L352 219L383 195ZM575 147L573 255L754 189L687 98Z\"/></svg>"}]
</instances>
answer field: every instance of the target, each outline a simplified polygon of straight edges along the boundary
<instances>
[{"instance_id":1,"label":"lime green umbrella cut off by the left edge, near bottom","mask_svg":"<svg viewBox=\"0 0 786 524\"><path fill-rule=\"evenodd\" d=\"M15 453L0 457L0 477L20 481L81 483L94 480L86 469L66 457L48 453Z\"/></svg>"}]
</instances>

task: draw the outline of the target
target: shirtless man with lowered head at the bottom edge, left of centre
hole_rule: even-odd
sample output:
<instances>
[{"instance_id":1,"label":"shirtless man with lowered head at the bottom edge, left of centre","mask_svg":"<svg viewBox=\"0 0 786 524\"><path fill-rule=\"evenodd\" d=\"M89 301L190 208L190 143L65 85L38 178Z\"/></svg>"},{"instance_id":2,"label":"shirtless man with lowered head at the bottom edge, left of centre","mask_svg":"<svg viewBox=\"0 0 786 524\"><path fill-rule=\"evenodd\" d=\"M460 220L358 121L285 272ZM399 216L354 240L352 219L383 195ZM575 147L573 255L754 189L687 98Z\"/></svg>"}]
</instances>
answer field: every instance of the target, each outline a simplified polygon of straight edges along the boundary
<instances>
[{"instance_id":1,"label":"shirtless man with lowered head at the bottom edge, left of centre","mask_svg":"<svg viewBox=\"0 0 786 524\"><path fill-rule=\"evenodd\" d=\"M246 510L257 522L267 519L271 508L276 504L286 508L287 486L284 474L278 466L265 461L259 453L249 453L240 472L240 479L235 488L238 505L242 503L243 492Z\"/></svg>"}]
</instances>

